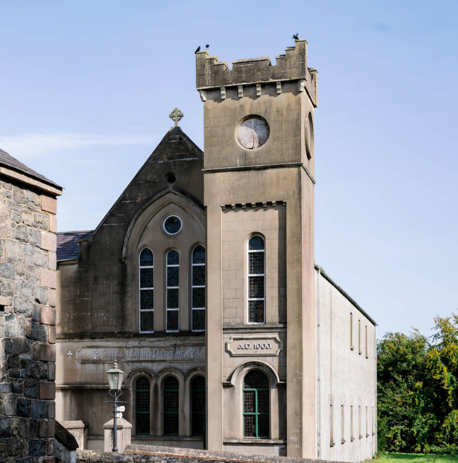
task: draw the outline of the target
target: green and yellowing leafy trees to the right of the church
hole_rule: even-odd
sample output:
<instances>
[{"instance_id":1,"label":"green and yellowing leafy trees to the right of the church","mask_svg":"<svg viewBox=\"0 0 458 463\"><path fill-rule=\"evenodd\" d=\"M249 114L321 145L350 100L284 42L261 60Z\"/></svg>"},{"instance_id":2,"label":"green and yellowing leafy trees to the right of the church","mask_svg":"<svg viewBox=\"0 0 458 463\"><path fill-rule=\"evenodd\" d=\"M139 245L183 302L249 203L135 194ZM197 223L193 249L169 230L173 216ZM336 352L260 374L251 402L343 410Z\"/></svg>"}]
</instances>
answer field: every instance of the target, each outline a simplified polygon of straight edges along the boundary
<instances>
[{"instance_id":1,"label":"green and yellowing leafy trees to the right of the church","mask_svg":"<svg viewBox=\"0 0 458 463\"><path fill-rule=\"evenodd\" d=\"M458 450L458 315L429 339L387 333L377 344L378 445L389 452Z\"/></svg>"}]
</instances>

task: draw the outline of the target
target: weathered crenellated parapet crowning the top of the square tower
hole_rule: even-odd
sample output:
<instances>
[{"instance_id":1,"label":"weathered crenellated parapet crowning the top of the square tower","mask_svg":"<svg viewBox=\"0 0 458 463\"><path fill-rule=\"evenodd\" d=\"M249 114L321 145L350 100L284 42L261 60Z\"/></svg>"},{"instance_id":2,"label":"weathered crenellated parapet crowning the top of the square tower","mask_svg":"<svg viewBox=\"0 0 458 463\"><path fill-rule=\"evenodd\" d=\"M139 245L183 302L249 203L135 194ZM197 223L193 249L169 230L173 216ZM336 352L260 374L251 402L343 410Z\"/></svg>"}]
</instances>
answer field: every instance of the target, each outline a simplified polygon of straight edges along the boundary
<instances>
[{"instance_id":1,"label":"weathered crenellated parapet crowning the top of the square tower","mask_svg":"<svg viewBox=\"0 0 458 463\"><path fill-rule=\"evenodd\" d=\"M313 105L317 106L317 71L307 68L307 41L297 40L284 55L276 57L272 66L269 56L237 59L230 69L218 56L209 56L204 50L196 54L196 88L211 90L233 85L253 85L298 80L300 91L307 90Z\"/></svg>"}]
</instances>

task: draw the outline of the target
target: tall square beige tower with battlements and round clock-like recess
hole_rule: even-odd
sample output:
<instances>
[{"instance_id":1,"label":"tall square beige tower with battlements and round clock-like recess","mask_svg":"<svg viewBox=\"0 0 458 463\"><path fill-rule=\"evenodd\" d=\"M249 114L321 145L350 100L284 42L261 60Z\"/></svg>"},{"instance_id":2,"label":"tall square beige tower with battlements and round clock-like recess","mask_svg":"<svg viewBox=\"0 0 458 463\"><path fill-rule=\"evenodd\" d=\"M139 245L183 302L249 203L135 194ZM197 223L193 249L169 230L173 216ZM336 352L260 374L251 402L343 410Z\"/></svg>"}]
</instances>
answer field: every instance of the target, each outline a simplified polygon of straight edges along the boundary
<instances>
[{"instance_id":1,"label":"tall square beige tower with battlements and round clock-like recess","mask_svg":"<svg viewBox=\"0 0 458 463\"><path fill-rule=\"evenodd\" d=\"M275 66L262 57L230 69L204 51L196 54L196 88L212 269L207 445L314 458L317 71L307 68L305 40ZM258 386L247 383L250 372L268 392L251 389Z\"/></svg>"}]
</instances>

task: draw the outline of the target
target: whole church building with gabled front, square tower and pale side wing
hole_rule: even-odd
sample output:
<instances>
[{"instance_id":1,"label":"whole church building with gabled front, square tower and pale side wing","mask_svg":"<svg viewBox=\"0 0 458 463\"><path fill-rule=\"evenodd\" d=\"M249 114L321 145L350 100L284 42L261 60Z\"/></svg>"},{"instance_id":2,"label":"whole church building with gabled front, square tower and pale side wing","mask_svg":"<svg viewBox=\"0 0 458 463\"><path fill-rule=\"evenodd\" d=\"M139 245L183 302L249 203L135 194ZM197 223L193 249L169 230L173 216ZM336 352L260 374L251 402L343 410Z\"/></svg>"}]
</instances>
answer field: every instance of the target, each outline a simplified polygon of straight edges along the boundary
<instances>
[{"instance_id":1,"label":"whole church building with gabled front, square tower and pale side wing","mask_svg":"<svg viewBox=\"0 0 458 463\"><path fill-rule=\"evenodd\" d=\"M57 235L56 417L132 443L356 462L377 451L376 324L315 265L307 42L196 53L204 152L175 127L93 231Z\"/></svg>"}]
</instances>

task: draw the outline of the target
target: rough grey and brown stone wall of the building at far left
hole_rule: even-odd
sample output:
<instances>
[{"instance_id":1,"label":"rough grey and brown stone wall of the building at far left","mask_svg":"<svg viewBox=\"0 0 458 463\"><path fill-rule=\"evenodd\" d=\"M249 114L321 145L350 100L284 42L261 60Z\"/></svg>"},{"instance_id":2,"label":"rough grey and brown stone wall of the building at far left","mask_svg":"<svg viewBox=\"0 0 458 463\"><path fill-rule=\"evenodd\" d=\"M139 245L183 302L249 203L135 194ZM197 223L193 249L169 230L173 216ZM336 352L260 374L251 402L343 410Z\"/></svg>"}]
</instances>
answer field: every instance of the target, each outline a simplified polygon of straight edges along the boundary
<instances>
[{"instance_id":1,"label":"rough grey and brown stone wall of the building at far left","mask_svg":"<svg viewBox=\"0 0 458 463\"><path fill-rule=\"evenodd\" d=\"M54 462L57 200L0 177L0 460Z\"/></svg>"}]
</instances>

